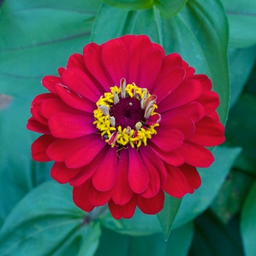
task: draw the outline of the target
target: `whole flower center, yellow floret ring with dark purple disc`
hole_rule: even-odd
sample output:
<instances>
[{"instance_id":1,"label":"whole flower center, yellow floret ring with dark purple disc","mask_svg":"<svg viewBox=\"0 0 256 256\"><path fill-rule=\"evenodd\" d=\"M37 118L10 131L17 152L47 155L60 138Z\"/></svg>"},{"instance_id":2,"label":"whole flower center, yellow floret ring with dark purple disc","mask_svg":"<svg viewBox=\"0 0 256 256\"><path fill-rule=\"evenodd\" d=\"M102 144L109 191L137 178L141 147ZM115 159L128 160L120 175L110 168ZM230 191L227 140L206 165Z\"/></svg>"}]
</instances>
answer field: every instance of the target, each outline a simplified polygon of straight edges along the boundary
<instances>
[{"instance_id":1,"label":"whole flower center, yellow floret ring with dark purple disc","mask_svg":"<svg viewBox=\"0 0 256 256\"><path fill-rule=\"evenodd\" d=\"M135 83L127 85L124 78L119 88L113 86L110 90L99 98L94 110L94 124L102 138L112 147L146 146L147 139L157 134L155 127L161 121L159 113L154 112L157 96Z\"/></svg>"}]
</instances>

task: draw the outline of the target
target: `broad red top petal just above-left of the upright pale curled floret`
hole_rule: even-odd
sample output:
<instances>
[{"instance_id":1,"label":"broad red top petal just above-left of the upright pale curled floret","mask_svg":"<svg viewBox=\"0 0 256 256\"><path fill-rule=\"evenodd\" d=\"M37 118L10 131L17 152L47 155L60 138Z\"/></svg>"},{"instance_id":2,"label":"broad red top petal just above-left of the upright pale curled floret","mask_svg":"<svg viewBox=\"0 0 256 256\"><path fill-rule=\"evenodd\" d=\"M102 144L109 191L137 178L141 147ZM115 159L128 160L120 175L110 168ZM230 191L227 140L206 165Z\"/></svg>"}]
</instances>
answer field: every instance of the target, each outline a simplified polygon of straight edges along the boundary
<instances>
[{"instance_id":1,"label":"broad red top petal just above-left of the upright pale curled floret","mask_svg":"<svg viewBox=\"0 0 256 256\"><path fill-rule=\"evenodd\" d=\"M102 44L102 61L114 85L119 86L121 78L128 77L128 49L121 39Z\"/></svg>"}]
</instances>

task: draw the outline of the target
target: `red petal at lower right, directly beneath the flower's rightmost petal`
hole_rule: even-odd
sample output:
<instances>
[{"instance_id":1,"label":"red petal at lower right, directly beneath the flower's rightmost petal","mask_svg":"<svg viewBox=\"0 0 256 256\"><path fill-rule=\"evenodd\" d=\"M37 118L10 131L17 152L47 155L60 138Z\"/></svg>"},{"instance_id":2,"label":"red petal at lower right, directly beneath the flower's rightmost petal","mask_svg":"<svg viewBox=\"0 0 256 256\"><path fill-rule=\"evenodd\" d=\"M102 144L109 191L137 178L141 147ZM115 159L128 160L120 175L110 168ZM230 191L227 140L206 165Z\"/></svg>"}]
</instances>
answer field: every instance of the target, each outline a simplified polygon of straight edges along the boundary
<instances>
[{"instance_id":1,"label":"red petal at lower right, directly beneath the flower's rightmost petal","mask_svg":"<svg viewBox=\"0 0 256 256\"><path fill-rule=\"evenodd\" d=\"M195 167L209 167L212 162L214 162L211 151L195 143L184 141L181 146L181 151L184 154L185 162L189 165Z\"/></svg>"}]
</instances>

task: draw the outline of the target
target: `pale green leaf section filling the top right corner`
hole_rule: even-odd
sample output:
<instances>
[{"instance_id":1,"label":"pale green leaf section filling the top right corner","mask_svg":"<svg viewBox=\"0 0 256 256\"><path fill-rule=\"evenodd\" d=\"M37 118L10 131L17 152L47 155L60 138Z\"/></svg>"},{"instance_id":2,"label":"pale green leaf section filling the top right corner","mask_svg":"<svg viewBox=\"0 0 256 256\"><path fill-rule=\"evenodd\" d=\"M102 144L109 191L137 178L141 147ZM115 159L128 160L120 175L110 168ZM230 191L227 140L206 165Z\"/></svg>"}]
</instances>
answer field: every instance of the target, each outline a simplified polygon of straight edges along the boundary
<instances>
[{"instance_id":1,"label":"pale green leaf section filling the top right corner","mask_svg":"<svg viewBox=\"0 0 256 256\"><path fill-rule=\"evenodd\" d=\"M256 1L221 0L230 27L230 45L237 48L256 44Z\"/></svg>"}]
</instances>

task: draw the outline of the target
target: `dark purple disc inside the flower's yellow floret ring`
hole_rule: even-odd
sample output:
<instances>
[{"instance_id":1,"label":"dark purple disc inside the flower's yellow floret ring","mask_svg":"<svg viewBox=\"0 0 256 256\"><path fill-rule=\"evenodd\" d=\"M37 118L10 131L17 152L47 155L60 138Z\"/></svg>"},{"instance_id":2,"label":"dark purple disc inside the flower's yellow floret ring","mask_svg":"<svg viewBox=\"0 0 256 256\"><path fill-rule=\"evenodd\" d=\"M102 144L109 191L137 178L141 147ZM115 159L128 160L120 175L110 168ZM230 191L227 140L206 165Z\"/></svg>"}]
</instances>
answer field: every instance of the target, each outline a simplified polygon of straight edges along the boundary
<instances>
[{"instance_id":1,"label":"dark purple disc inside the flower's yellow floret ring","mask_svg":"<svg viewBox=\"0 0 256 256\"><path fill-rule=\"evenodd\" d=\"M119 102L110 107L110 116L116 119L116 127L121 126L122 129L135 129L135 124L144 123L144 113L145 110L140 107L140 100L131 97L119 98Z\"/></svg>"}]
</instances>

